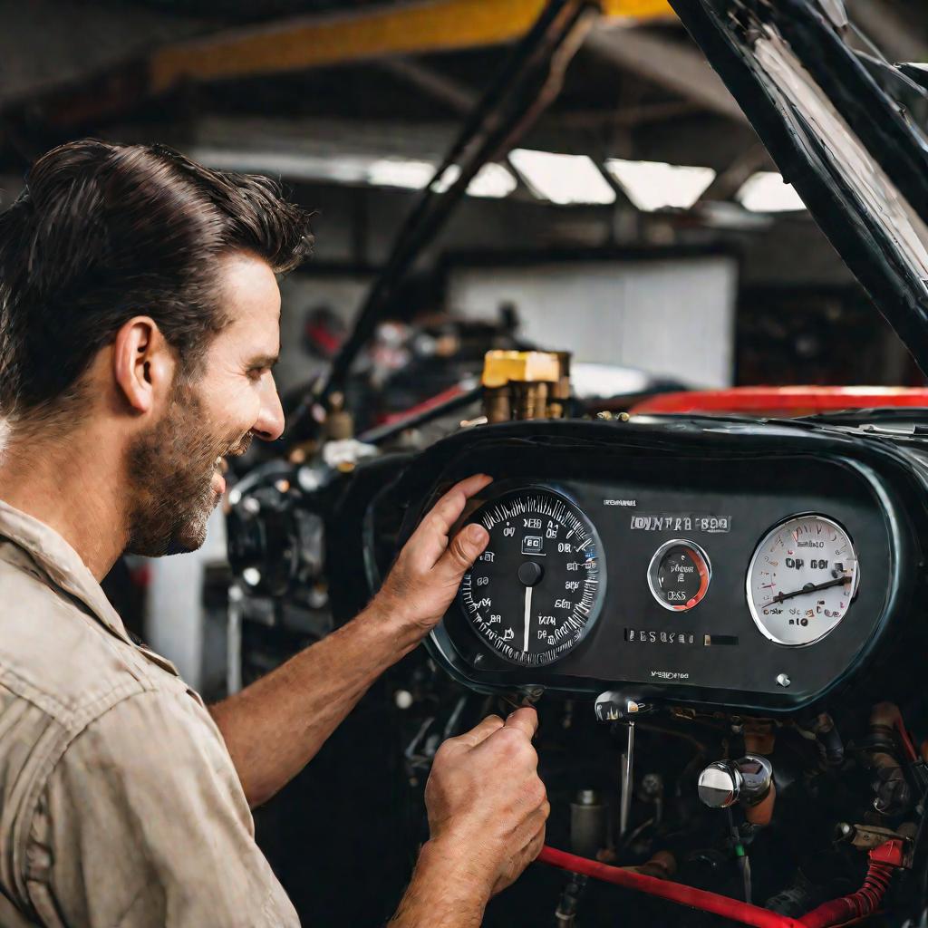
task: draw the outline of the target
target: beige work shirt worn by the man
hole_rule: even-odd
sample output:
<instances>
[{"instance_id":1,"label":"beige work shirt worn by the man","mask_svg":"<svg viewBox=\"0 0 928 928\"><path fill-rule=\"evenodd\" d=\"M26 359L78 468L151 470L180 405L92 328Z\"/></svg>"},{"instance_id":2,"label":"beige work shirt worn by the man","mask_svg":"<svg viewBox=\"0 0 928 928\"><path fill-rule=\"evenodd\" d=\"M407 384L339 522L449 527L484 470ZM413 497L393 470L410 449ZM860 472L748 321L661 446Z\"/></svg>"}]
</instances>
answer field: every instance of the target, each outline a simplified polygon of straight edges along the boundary
<instances>
[{"instance_id":1,"label":"beige work shirt worn by the man","mask_svg":"<svg viewBox=\"0 0 928 928\"><path fill-rule=\"evenodd\" d=\"M0 501L0 926L35 925L299 920L200 696Z\"/></svg>"}]
</instances>

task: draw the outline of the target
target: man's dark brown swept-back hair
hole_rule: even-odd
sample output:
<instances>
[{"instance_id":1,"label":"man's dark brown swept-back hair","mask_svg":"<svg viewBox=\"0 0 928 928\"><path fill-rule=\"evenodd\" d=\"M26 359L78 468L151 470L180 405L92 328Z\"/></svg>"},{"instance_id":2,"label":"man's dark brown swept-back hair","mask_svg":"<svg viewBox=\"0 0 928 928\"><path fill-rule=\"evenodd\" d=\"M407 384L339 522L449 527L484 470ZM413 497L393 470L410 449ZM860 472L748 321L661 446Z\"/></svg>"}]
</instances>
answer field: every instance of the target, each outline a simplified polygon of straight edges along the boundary
<instances>
[{"instance_id":1,"label":"man's dark brown swept-back hair","mask_svg":"<svg viewBox=\"0 0 928 928\"><path fill-rule=\"evenodd\" d=\"M0 214L0 415L60 406L137 314L195 371L230 321L215 259L251 251L280 272L311 248L309 215L265 177L212 171L161 145L52 149Z\"/></svg>"}]
</instances>

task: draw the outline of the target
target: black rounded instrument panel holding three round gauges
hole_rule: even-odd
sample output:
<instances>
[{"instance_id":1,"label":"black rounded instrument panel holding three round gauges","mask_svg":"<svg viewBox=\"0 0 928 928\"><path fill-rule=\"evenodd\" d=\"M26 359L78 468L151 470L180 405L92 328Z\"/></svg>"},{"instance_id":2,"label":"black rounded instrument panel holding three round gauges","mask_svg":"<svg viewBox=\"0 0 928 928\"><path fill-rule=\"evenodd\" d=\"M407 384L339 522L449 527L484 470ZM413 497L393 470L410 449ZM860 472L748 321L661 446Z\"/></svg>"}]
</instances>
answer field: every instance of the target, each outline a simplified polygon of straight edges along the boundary
<instances>
[{"instance_id":1,"label":"black rounded instrument panel holding three round gauges","mask_svg":"<svg viewBox=\"0 0 928 928\"><path fill-rule=\"evenodd\" d=\"M411 526L458 477L505 474L462 517L490 541L429 643L470 687L793 712L902 638L910 464L784 426L545 429L457 436L407 475L437 476Z\"/></svg>"}]
</instances>

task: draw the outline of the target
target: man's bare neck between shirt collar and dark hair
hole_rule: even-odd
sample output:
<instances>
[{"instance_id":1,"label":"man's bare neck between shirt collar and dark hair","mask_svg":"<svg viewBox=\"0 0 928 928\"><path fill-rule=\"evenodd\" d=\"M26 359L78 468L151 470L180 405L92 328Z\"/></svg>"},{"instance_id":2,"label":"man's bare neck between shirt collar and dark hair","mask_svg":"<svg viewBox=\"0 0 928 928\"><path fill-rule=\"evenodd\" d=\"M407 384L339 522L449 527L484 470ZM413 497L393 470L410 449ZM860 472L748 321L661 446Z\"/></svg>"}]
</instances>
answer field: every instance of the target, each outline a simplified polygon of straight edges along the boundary
<instances>
[{"instance_id":1,"label":"man's bare neck between shirt collar and dark hair","mask_svg":"<svg viewBox=\"0 0 928 928\"><path fill-rule=\"evenodd\" d=\"M127 543L119 460L111 448L108 457L108 443L76 430L2 432L0 423L0 499L58 532L102 580Z\"/></svg>"}]
</instances>

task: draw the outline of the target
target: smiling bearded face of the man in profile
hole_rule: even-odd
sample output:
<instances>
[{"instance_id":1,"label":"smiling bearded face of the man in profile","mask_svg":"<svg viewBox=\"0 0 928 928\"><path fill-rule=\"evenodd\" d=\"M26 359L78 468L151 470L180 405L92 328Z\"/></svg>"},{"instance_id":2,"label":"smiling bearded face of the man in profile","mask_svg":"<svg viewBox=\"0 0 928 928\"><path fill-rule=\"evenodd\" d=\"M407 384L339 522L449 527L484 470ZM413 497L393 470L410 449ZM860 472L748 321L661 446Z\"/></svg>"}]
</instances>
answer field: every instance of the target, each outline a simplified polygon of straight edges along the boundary
<instances>
[{"instance_id":1,"label":"smiling bearded face of the man in profile","mask_svg":"<svg viewBox=\"0 0 928 928\"><path fill-rule=\"evenodd\" d=\"M226 490L221 458L244 454L252 435L273 441L283 432L271 373L280 344L277 280L245 252L223 265L224 308L234 321L211 343L196 380L174 384L161 420L130 449L127 550L135 554L200 548Z\"/></svg>"}]
</instances>

